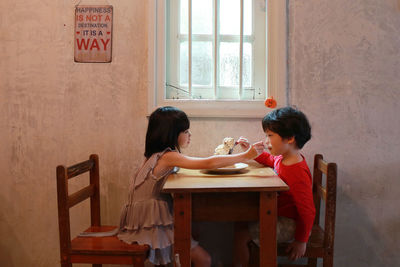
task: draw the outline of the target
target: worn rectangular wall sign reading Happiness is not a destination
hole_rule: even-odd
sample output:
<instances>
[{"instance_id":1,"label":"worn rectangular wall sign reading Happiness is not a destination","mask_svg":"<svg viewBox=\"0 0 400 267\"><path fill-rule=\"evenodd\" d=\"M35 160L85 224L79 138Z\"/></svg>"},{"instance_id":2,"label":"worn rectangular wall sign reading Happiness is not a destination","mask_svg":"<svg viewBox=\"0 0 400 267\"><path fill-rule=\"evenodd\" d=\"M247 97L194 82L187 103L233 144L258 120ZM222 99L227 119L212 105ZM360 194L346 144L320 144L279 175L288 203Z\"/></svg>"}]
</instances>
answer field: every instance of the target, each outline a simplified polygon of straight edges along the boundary
<instances>
[{"instance_id":1,"label":"worn rectangular wall sign reading Happiness is not a destination","mask_svg":"<svg viewBox=\"0 0 400 267\"><path fill-rule=\"evenodd\" d=\"M113 7L75 7L75 62L111 62Z\"/></svg>"}]
</instances>

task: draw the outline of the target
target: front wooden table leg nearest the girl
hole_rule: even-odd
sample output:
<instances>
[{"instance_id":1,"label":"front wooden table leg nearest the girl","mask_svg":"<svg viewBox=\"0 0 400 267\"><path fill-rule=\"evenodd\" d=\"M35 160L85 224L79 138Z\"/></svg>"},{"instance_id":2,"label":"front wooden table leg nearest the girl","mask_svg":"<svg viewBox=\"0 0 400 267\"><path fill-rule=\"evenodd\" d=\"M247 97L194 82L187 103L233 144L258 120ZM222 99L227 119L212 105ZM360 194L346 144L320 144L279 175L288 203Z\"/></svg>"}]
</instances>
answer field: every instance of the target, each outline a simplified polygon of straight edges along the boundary
<instances>
[{"instance_id":1,"label":"front wooden table leg nearest the girl","mask_svg":"<svg viewBox=\"0 0 400 267\"><path fill-rule=\"evenodd\" d=\"M174 194L174 258L175 267L190 267L190 242L192 221L192 195Z\"/></svg>"}]
</instances>

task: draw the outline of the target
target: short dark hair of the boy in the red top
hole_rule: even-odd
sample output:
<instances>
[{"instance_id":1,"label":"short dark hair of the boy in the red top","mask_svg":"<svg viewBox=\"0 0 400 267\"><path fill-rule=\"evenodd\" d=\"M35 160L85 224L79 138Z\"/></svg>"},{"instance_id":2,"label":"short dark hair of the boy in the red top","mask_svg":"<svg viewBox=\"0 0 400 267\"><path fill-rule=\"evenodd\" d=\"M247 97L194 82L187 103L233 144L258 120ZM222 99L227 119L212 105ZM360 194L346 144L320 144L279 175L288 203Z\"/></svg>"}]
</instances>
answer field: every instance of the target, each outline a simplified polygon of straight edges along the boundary
<instances>
[{"instance_id":1,"label":"short dark hair of the boy in the red top","mask_svg":"<svg viewBox=\"0 0 400 267\"><path fill-rule=\"evenodd\" d=\"M299 149L311 139L311 126L306 115L292 107L271 111L262 120L262 126L264 132L270 130L282 138L294 137Z\"/></svg>"}]
</instances>

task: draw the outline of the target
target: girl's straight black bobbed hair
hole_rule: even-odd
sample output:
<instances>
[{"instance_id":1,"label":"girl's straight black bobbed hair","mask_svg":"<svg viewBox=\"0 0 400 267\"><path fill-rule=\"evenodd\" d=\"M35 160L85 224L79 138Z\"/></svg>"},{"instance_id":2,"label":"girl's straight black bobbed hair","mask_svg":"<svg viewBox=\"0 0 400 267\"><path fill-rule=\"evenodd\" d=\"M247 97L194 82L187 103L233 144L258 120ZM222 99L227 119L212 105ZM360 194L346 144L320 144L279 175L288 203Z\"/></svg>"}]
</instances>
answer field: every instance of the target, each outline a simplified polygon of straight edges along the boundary
<instances>
[{"instance_id":1,"label":"girl's straight black bobbed hair","mask_svg":"<svg viewBox=\"0 0 400 267\"><path fill-rule=\"evenodd\" d=\"M168 147L180 151L178 136L189 126L189 119L182 110L169 106L157 108L149 118L144 156L150 158Z\"/></svg>"}]
</instances>

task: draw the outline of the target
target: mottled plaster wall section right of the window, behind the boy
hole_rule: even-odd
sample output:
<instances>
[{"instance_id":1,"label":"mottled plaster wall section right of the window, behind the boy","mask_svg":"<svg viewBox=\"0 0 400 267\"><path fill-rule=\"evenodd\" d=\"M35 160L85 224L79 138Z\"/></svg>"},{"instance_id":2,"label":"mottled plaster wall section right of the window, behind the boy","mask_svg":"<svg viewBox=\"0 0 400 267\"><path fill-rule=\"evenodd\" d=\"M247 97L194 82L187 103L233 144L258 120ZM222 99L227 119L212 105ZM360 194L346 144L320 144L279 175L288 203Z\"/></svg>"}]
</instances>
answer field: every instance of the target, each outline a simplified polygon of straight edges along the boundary
<instances>
[{"instance_id":1,"label":"mottled plaster wall section right of the window, behind the boy","mask_svg":"<svg viewBox=\"0 0 400 267\"><path fill-rule=\"evenodd\" d=\"M400 266L400 7L289 1L291 102L338 163L335 266Z\"/></svg>"}]
</instances>

